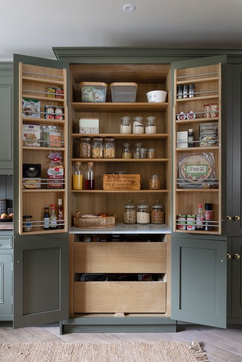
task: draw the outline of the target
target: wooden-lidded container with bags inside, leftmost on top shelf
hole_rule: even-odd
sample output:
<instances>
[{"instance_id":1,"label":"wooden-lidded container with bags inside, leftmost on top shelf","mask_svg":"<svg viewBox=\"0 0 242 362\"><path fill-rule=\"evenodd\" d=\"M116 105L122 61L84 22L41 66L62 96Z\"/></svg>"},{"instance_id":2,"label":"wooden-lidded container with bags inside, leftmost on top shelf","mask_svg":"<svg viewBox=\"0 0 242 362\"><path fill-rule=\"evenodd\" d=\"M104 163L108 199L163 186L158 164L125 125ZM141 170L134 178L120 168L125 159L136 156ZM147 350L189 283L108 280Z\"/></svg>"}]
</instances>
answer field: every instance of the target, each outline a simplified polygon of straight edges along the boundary
<instances>
[{"instance_id":1,"label":"wooden-lidded container with bags inside, leftmost on top shelf","mask_svg":"<svg viewBox=\"0 0 242 362\"><path fill-rule=\"evenodd\" d=\"M81 82L83 102L105 102L107 84L102 82Z\"/></svg>"}]
</instances>

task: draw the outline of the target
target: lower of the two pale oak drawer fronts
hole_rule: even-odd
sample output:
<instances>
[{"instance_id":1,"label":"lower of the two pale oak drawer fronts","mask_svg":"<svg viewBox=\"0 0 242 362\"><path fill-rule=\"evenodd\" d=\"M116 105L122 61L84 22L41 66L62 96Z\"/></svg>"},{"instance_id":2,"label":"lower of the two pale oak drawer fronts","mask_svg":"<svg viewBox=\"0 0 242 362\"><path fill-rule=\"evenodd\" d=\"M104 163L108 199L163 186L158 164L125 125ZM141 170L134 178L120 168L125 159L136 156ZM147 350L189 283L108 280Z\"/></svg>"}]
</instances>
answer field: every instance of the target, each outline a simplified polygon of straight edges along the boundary
<instances>
[{"instance_id":1,"label":"lower of the two pale oak drawer fronts","mask_svg":"<svg viewBox=\"0 0 242 362\"><path fill-rule=\"evenodd\" d=\"M165 313L162 281L76 281L74 313Z\"/></svg>"}]
</instances>

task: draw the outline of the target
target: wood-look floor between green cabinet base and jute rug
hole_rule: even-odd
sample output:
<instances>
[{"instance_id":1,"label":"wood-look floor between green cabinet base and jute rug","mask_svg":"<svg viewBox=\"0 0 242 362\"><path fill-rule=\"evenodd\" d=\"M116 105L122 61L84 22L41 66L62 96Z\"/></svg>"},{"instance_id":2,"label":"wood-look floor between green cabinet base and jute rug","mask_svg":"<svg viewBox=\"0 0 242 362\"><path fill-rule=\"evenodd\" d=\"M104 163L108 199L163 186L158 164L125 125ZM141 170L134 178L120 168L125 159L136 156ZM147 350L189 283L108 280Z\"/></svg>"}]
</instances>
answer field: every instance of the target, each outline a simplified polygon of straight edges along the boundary
<instances>
[{"instance_id":1,"label":"wood-look floor between green cabinet base and jute rug","mask_svg":"<svg viewBox=\"0 0 242 362\"><path fill-rule=\"evenodd\" d=\"M192 342L201 343L209 362L242 362L242 329L182 327L177 333L66 333L59 327L29 327L13 330L0 327L0 343L111 343L111 342Z\"/></svg>"}]
</instances>

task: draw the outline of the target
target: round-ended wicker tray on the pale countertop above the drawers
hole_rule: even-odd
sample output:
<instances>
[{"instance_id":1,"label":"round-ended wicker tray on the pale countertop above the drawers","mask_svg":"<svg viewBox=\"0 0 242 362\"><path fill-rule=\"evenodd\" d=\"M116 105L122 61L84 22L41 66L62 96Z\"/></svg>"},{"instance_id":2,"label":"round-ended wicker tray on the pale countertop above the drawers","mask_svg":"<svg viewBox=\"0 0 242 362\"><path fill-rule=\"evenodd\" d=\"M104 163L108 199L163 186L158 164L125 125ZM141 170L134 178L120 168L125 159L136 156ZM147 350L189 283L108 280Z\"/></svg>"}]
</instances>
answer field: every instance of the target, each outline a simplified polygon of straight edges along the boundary
<instances>
[{"instance_id":1,"label":"round-ended wicker tray on the pale countertop above the drawers","mask_svg":"<svg viewBox=\"0 0 242 362\"><path fill-rule=\"evenodd\" d=\"M86 215L90 215L90 217ZM81 214L80 211L74 213L74 226L85 229L104 229L115 225L116 214L105 214L105 217L92 217L91 215L99 216L100 214Z\"/></svg>"}]
</instances>

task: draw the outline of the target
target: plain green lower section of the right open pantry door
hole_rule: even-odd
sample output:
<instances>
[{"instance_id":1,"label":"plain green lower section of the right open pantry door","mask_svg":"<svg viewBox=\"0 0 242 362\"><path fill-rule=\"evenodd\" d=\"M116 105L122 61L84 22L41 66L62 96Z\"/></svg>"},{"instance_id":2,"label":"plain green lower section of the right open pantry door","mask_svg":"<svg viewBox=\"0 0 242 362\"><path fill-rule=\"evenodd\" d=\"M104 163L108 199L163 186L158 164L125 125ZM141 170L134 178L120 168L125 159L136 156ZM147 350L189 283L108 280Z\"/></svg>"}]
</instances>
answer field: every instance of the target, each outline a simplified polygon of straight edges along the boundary
<instances>
[{"instance_id":1,"label":"plain green lower section of the right open pantry door","mask_svg":"<svg viewBox=\"0 0 242 362\"><path fill-rule=\"evenodd\" d=\"M226 328L227 242L172 238L172 319Z\"/></svg>"}]
</instances>

